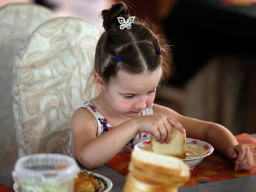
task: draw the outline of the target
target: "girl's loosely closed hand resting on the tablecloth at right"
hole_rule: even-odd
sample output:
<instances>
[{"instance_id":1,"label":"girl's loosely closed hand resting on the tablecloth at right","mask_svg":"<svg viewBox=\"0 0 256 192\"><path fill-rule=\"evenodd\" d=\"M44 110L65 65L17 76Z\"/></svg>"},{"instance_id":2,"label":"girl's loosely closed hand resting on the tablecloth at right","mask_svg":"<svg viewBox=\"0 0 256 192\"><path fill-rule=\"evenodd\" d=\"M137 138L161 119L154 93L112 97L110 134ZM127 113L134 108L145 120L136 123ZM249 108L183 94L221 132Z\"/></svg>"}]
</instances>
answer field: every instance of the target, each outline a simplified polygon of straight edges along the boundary
<instances>
[{"instance_id":1,"label":"girl's loosely closed hand resting on the tablecloth at right","mask_svg":"<svg viewBox=\"0 0 256 192\"><path fill-rule=\"evenodd\" d=\"M250 148L244 144L238 144L228 148L228 157L236 164L234 170L250 170L254 159Z\"/></svg>"}]
</instances>

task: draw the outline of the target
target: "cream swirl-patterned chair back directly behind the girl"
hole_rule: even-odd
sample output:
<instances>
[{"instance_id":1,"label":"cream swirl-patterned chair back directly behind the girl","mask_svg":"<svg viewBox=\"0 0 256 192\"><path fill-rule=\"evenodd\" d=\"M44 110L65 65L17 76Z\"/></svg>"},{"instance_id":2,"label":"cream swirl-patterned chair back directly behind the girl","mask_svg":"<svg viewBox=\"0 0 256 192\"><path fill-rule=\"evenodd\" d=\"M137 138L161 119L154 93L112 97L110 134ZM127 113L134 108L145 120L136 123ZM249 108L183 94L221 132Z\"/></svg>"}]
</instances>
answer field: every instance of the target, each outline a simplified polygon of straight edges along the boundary
<instances>
[{"instance_id":1,"label":"cream swirl-patterned chair back directly behind the girl","mask_svg":"<svg viewBox=\"0 0 256 192\"><path fill-rule=\"evenodd\" d=\"M71 116L84 93L102 29L58 17L37 28L13 70L12 97L19 156L69 154ZM95 91L95 87L93 88Z\"/></svg>"}]
</instances>

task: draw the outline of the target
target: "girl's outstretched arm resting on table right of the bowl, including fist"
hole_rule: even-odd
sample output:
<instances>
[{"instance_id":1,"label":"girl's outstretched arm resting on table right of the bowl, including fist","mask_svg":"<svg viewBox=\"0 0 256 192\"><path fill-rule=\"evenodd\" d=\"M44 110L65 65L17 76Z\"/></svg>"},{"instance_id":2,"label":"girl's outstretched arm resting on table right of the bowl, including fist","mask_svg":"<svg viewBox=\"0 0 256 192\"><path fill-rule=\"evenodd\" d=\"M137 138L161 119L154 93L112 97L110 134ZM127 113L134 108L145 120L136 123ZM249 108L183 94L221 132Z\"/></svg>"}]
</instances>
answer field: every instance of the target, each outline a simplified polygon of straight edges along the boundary
<instances>
[{"instance_id":1,"label":"girl's outstretched arm resting on table right of the bowl, including fist","mask_svg":"<svg viewBox=\"0 0 256 192\"><path fill-rule=\"evenodd\" d=\"M248 170L253 166L253 156L250 148L237 143L234 135L220 124L182 116L170 108L154 104L154 113L171 116L186 129L188 138L211 143L218 150L229 157L235 165L235 170Z\"/></svg>"}]
</instances>

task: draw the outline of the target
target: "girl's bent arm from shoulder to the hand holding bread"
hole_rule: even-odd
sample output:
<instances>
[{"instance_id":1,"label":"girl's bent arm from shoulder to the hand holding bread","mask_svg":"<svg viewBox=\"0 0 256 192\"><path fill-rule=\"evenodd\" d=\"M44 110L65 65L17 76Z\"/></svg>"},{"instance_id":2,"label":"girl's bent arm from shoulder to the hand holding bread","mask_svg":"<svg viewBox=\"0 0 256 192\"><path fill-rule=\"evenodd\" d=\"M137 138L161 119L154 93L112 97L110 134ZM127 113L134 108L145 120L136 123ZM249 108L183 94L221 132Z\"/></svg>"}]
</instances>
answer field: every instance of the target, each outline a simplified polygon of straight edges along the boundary
<instances>
[{"instance_id":1,"label":"girl's bent arm from shoulder to the hand holding bread","mask_svg":"<svg viewBox=\"0 0 256 192\"><path fill-rule=\"evenodd\" d=\"M164 115L146 115L131 118L97 137L95 117L87 109L79 108L72 116L74 157L86 168L92 169L112 159L138 132L150 132L161 143L170 141L172 125L185 132L172 118Z\"/></svg>"}]
</instances>

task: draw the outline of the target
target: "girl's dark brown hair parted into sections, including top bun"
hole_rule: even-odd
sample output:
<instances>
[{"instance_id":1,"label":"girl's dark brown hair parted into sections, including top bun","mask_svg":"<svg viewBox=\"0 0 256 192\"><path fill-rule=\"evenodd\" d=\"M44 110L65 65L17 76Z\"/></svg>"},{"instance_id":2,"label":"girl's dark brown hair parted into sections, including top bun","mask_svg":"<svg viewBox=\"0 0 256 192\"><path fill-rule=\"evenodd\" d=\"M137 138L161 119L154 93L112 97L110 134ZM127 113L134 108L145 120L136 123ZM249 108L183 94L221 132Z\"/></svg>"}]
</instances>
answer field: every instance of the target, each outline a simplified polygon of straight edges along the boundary
<instances>
[{"instance_id":1,"label":"girl's dark brown hair parted into sections, including top bun","mask_svg":"<svg viewBox=\"0 0 256 192\"><path fill-rule=\"evenodd\" d=\"M161 33L152 28L152 24L136 17L131 29L120 29L117 17L127 20L131 15L123 2L113 4L109 10L102 11L103 27L95 52L95 72L104 83L116 76L118 70L130 74L153 72L161 66L162 79L170 76L172 56L170 47ZM161 51L161 55L157 54ZM116 61L116 56L120 61Z\"/></svg>"}]
</instances>

